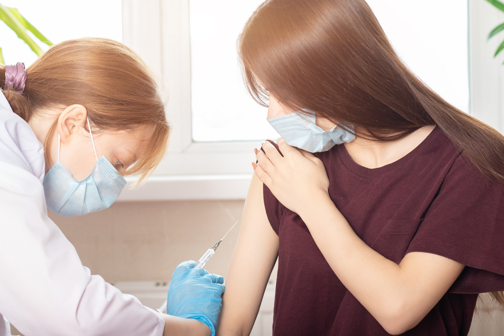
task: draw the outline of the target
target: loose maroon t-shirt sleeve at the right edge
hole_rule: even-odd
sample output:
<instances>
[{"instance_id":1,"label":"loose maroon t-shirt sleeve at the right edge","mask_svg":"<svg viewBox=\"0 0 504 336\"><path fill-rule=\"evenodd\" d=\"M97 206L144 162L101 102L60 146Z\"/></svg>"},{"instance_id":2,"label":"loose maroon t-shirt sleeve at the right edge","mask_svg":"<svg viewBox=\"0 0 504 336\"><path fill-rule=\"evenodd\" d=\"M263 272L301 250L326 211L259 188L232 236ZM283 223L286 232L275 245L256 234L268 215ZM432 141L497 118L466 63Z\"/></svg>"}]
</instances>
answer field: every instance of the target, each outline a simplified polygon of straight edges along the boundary
<instances>
[{"instance_id":1,"label":"loose maroon t-shirt sleeve at the right edge","mask_svg":"<svg viewBox=\"0 0 504 336\"><path fill-rule=\"evenodd\" d=\"M451 293L502 291L503 240L504 186L459 155L406 253L428 252L466 265Z\"/></svg>"}]
</instances>

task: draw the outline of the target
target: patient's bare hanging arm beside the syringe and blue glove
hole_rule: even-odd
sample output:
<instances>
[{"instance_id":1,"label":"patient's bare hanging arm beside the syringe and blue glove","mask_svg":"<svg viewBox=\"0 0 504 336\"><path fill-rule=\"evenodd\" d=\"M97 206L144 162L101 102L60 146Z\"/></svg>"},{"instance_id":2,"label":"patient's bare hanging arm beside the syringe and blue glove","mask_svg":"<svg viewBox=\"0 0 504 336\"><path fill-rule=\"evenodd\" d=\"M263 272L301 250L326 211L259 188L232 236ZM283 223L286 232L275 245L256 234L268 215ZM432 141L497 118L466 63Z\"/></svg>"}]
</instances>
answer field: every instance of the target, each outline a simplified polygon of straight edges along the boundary
<instances>
[{"instance_id":1,"label":"patient's bare hanging arm beside the syringe and blue glove","mask_svg":"<svg viewBox=\"0 0 504 336\"><path fill-rule=\"evenodd\" d=\"M219 334L250 333L277 256L278 236L266 216L263 183L254 174L222 297Z\"/></svg>"}]
</instances>

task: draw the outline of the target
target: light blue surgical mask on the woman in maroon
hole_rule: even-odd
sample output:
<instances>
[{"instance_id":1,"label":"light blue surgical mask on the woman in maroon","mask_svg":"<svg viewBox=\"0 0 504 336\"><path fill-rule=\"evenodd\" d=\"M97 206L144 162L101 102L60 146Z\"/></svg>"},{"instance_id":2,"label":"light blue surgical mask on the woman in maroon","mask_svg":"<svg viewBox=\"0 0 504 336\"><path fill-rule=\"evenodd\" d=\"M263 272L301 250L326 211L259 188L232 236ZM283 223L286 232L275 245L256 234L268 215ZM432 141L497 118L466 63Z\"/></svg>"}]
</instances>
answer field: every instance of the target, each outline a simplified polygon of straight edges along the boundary
<instances>
[{"instance_id":1,"label":"light blue surgical mask on the woman in maroon","mask_svg":"<svg viewBox=\"0 0 504 336\"><path fill-rule=\"evenodd\" d=\"M268 122L287 144L310 153L325 152L334 145L355 139L355 135L338 125L323 130L316 125L312 112L302 115L299 112L289 113L268 119Z\"/></svg>"}]
</instances>

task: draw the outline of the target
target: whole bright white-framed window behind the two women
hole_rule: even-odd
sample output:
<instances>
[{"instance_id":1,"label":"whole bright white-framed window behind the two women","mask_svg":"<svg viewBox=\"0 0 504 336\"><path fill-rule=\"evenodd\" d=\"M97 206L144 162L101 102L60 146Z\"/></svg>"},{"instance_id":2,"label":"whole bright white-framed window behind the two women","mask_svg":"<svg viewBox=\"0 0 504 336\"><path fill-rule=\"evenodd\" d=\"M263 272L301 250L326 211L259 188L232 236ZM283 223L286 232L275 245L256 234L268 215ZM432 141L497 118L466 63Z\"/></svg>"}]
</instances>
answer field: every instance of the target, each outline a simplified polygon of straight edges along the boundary
<instances>
[{"instance_id":1,"label":"whole bright white-framed window behind the two women","mask_svg":"<svg viewBox=\"0 0 504 336\"><path fill-rule=\"evenodd\" d=\"M117 8L122 5L122 41L139 52L162 78L169 92L167 114L173 130L168 153L154 175L143 188L124 190L119 199L238 199L245 197L253 173L253 149L260 146L260 140L276 138L266 121L266 109L248 97L241 83L235 54L237 35L260 2L50 0L48 5L34 0L8 0L3 5L17 6L28 20L44 13L43 22L31 21L53 42L80 36L121 40ZM468 2L425 0L421 6L403 0L368 3L412 71L442 97L468 112ZM471 8L489 6L481 3ZM47 12L55 6L73 16ZM471 32L485 35L499 23L497 16L489 23L486 17L477 16ZM112 28L105 33L107 22ZM478 28L481 25L484 29ZM491 26L489 30L487 25ZM72 26L93 31L72 35ZM479 35L481 46L486 40ZM471 50L471 62L475 62L480 56L474 53L475 48ZM9 53L4 47L8 62L20 59ZM498 89L494 91L498 94ZM471 106L483 100L480 96L472 97Z\"/></svg>"}]
</instances>

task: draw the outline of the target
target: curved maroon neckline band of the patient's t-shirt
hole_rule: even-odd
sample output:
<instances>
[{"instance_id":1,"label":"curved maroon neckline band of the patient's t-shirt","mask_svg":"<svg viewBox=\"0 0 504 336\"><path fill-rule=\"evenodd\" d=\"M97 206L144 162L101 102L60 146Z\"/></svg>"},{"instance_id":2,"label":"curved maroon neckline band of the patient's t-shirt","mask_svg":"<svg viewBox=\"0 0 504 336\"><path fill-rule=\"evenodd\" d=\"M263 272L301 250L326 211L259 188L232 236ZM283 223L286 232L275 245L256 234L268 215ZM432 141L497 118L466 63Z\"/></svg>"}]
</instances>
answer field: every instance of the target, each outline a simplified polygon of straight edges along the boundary
<instances>
[{"instance_id":1,"label":"curved maroon neckline band of the patient's t-shirt","mask_svg":"<svg viewBox=\"0 0 504 336\"><path fill-rule=\"evenodd\" d=\"M434 129L432 129L432 131L429 133L429 135L411 152L409 152L399 160L396 160L392 163L389 163L388 165L379 168L366 168L364 166L359 165L357 162L353 161L352 157L350 156L350 154L348 153L343 144L337 146L338 154L343 165L352 173L365 177L379 177L405 164L406 162L414 158L416 155L418 155L425 149L428 149L430 144L433 143L433 140L436 139L440 135L440 133L441 131L439 130L439 127L436 125Z\"/></svg>"}]
</instances>

